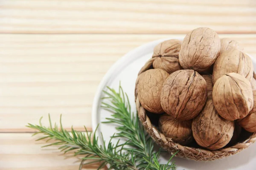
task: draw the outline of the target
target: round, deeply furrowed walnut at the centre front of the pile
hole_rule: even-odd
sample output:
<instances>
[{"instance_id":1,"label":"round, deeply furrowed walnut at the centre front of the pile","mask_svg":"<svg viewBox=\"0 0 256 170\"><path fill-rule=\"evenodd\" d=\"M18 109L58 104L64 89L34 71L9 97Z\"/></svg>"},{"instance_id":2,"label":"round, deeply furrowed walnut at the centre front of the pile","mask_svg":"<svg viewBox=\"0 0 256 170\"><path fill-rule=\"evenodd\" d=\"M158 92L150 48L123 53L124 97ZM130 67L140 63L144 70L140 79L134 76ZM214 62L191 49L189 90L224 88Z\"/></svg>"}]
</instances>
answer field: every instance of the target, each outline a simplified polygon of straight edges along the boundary
<instances>
[{"instance_id":1,"label":"round, deeply furrowed walnut at the centre front of the pile","mask_svg":"<svg viewBox=\"0 0 256 170\"><path fill-rule=\"evenodd\" d=\"M188 120L198 115L207 98L207 84L194 70L179 70L163 83L161 106L175 119Z\"/></svg>"}]
</instances>

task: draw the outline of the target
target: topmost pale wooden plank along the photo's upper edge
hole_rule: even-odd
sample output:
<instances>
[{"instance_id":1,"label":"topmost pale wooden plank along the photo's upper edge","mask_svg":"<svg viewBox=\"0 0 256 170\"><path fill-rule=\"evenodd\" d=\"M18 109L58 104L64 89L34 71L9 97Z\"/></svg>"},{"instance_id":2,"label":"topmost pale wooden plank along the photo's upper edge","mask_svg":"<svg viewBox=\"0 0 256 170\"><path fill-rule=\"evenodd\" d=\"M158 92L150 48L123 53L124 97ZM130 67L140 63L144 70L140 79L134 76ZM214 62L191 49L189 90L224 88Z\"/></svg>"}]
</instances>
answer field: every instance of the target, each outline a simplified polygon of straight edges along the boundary
<instances>
[{"instance_id":1,"label":"topmost pale wooden plank along the photo's upper edge","mask_svg":"<svg viewBox=\"0 0 256 170\"><path fill-rule=\"evenodd\" d=\"M256 33L255 0L1 0L1 33Z\"/></svg>"}]
</instances>

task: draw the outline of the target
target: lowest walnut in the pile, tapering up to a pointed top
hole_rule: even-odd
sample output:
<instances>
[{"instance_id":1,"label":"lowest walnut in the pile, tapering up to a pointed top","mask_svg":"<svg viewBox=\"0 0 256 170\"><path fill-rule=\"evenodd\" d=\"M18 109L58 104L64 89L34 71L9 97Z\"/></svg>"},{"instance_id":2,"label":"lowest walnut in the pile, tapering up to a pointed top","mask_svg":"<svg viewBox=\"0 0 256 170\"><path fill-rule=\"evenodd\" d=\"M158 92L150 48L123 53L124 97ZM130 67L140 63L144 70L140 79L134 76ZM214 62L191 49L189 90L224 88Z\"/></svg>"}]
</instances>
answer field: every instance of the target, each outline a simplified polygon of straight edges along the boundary
<instances>
[{"instance_id":1,"label":"lowest walnut in the pile, tapering up to a pointed top","mask_svg":"<svg viewBox=\"0 0 256 170\"><path fill-rule=\"evenodd\" d=\"M223 119L215 110L212 99L207 99L202 112L192 121L195 141L210 150L220 149L230 142L234 121Z\"/></svg>"}]
</instances>

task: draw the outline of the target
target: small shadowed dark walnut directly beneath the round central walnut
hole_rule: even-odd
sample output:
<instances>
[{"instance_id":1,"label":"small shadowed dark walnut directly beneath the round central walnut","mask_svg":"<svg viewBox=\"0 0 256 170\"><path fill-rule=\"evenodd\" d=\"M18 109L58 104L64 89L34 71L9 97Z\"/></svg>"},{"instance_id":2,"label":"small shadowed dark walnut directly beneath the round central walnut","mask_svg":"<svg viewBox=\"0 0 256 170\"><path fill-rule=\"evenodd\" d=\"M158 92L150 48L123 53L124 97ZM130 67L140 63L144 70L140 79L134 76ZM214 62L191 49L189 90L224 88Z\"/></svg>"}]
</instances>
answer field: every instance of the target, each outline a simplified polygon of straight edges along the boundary
<instances>
[{"instance_id":1,"label":"small shadowed dark walnut directly beneath the round central walnut","mask_svg":"<svg viewBox=\"0 0 256 170\"><path fill-rule=\"evenodd\" d=\"M174 142L186 145L192 142L191 120L173 119L172 116L164 114L159 119L160 131Z\"/></svg>"}]
</instances>

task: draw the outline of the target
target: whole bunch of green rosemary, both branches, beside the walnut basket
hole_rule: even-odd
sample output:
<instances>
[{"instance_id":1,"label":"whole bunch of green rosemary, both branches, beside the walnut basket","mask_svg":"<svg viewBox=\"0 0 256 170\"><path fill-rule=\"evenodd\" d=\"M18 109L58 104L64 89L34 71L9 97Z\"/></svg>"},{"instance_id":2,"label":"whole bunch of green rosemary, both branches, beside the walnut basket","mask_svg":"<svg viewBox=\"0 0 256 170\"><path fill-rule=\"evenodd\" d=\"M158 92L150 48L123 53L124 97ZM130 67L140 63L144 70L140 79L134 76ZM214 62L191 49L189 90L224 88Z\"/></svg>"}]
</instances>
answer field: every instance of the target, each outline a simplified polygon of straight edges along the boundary
<instances>
[{"instance_id":1,"label":"whole bunch of green rosemary, both branches, beside the walnut basket","mask_svg":"<svg viewBox=\"0 0 256 170\"><path fill-rule=\"evenodd\" d=\"M52 125L51 118L49 116L49 127L39 125L28 124L27 127L38 130L36 134L43 134L37 140L48 139L54 140L54 143L50 143L47 146L60 145L58 149L67 153L71 150L75 152L75 155L83 155L79 170L82 165L100 162L98 169L109 165L109 170L175 170L175 164L159 164L158 158L160 156L160 150L155 152L153 150L154 142L145 133L143 127L139 123L138 116L134 116L131 112L131 105L128 100L127 94L119 86L119 91L116 92L114 89L108 88L108 91L104 91L107 95L105 97L111 104L102 102L102 107L113 114L112 118L107 118L105 123L115 123L118 126L116 129L118 133L113 134L113 138L124 138L125 143L120 144L119 140L116 144L113 144L110 140L106 144L103 139L103 145L99 144L99 139L95 133L88 132L86 127L84 132L79 132L71 128L71 133L64 130L60 119L61 130L58 129L57 124Z\"/></svg>"}]
</instances>

